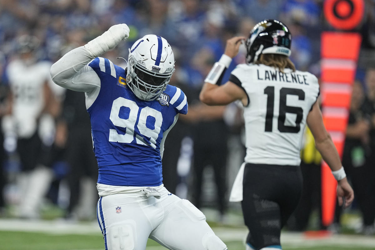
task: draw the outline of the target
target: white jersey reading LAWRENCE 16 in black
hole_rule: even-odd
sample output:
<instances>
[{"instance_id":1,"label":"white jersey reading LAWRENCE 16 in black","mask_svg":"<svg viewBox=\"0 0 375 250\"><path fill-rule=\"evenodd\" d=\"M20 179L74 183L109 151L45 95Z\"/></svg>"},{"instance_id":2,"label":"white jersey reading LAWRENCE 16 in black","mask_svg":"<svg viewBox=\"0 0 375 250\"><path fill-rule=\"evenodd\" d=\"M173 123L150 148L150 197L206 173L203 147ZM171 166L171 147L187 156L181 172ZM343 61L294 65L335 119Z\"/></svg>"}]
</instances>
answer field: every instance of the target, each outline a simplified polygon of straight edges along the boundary
<instances>
[{"instance_id":1,"label":"white jersey reading LAWRENCE 16 in black","mask_svg":"<svg viewBox=\"0 0 375 250\"><path fill-rule=\"evenodd\" d=\"M240 64L229 81L249 98L244 108L247 163L299 165L306 117L319 95L309 72Z\"/></svg>"}]
</instances>

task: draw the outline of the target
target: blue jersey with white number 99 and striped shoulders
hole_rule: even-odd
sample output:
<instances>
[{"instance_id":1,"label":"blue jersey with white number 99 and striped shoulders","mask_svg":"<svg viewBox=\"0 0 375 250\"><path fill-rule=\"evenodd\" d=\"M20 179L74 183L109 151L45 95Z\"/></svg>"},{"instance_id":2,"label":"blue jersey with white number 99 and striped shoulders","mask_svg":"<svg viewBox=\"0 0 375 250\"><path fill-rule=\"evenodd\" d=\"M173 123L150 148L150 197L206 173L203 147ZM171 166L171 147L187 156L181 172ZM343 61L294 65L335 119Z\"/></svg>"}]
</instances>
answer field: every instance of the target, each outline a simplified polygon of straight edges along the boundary
<instances>
[{"instance_id":1,"label":"blue jersey with white number 99 and striped shoulders","mask_svg":"<svg viewBox=\"0 0 375 250\"><path fill-rule=\"evenodd\" d=\"M185 94L177 87L153 101L138 99L127 87L125 70L107 58L89 63L101 80L90 114L98 183L114 186L162 184L163 136L187 113Z\"/></svg>"}]
</instances>

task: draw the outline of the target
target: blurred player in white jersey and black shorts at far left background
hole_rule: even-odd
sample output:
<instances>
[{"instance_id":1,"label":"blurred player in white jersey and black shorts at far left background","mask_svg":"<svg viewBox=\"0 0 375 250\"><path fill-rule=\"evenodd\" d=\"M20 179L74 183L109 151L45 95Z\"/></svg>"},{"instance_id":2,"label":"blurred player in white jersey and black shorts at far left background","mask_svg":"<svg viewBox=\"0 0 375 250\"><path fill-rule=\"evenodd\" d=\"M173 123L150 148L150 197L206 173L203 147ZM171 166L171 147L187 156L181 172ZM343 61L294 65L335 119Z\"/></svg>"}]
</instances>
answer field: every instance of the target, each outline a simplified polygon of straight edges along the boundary
<instances>
[{"instance_id":1,"label":"blurred player in white jersey and black shorts at far left background","mask_svg":"<svg viewBox=\"0 0 375 250\"><path fill-rule=\"evenodd\" d=\"M6 147L17 148L21 172L18 176L20 207L16 216L36 219L48 191L53 172L54 118L60 111L58 96L63 88L53 84L49 61L40 61L40 40L24 34L17 39L17 55L6 68L10 114L4 117Z\"/></svg>"}]
</instances>

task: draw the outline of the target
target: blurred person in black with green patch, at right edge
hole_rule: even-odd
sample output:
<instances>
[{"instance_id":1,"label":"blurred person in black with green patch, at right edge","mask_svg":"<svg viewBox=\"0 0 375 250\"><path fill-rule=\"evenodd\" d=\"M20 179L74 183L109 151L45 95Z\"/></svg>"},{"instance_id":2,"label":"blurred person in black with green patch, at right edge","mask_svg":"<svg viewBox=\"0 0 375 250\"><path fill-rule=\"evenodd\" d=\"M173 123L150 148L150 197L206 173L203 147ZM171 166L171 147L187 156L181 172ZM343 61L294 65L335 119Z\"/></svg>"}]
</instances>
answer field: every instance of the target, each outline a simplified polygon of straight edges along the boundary
<instances>
[{"instance_id":1,"label":"blurred person in black with green patch, at right edge","mask_svg":"<svg viewBox=\"0 0 375 250\"><path fill-rule=\"evenodd\" d=\"M366 235L375 234L375 196L371 187L374 183L374 166L366 164L369 157L370 121L362 111L365 100L363 85L360 81L353 84L347 133L345 138L342 165L353 185L356 201L362 213L363 226L361 232Z\"/></svg>"}]
</instances>

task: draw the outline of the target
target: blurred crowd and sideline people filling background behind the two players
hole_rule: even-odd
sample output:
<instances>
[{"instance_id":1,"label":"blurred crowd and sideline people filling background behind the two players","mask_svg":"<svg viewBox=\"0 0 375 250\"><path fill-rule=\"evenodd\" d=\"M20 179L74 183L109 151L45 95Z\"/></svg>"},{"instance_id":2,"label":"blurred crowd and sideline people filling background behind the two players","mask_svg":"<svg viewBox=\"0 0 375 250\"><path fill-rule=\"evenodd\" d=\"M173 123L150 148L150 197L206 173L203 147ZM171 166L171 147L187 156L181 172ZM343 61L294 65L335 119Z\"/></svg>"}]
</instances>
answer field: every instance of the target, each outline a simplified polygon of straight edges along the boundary
<instances>
[{"instance_id":1,"label":"blurred crowd and sideline people filling background behind the two players","mask_svg":"<svg viewBox=\"0 0 375 250\"><path fill-rule=\"evenodd\" d=\"M375 1L365 4L365 18L354 31L363 36L362 49L375 49ZM170 84L189 101L189 113L166 140L163 182L198 208L214 207L223 219L245 154L241 110L205 106L198 94L226 40L248 36L263 19L288 26L291 60L319 77L320 34L333 30L324 21L323 0L0 0L0 216L39 218L47 198L66 218L95 217L97 165L84 93L57 87L48 68L111 25L126 23L129 38L103 57L126 67L118 57L127 59L133 42L145 34L164 37L176 60ZM245 54L243 46L223 82ZM356 79L343 164L356 192L354 206L366 233L374 234L375 64L359 68ZM308 147L308 133L306 138ZM305 193L290 222L293 230L305 230L310 212L320 206L320 156L312 152L302 157Z\"/></svg>"}]
</instances>

